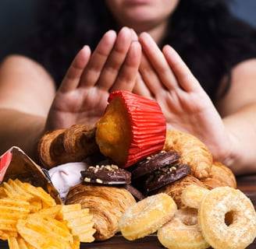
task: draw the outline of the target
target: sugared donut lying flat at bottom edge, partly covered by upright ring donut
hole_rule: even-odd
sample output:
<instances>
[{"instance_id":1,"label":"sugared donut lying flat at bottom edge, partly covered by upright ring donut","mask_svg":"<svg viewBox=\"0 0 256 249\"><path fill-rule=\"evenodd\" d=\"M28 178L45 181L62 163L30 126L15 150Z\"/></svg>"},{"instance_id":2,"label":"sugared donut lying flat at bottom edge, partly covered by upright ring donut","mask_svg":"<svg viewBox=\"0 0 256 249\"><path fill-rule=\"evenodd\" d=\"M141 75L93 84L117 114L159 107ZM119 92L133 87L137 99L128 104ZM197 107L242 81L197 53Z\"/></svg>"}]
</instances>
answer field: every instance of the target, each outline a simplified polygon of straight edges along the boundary
<instances>
[{"instance_id":1,"label":"sugared donut lying flat at bottom edge, partly covered by upright ring donut","mask_svg":"<svg viewBox=\"0 0 256 249\"><path fill-rule=\"evenodd\" d=\"M197 221L197 209L177 209L169 223L158 229L158 240L169 249L208 248Z\"/></svg>"}]
</instances>

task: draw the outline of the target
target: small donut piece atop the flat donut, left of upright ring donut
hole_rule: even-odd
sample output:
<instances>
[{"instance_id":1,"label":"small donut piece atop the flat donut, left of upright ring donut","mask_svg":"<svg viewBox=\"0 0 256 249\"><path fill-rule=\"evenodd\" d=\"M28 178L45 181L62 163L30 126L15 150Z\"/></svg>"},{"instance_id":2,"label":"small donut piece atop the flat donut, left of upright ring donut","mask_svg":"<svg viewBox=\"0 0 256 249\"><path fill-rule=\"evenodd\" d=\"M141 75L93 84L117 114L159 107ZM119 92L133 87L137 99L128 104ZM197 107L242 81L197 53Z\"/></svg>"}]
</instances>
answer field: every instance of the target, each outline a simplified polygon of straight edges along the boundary
<instances>
[{"instance_id":1,"label":"small donut piece atop the flat donut, left of upright ring donut","mask_svg":"<svg viewBox=\"0 0 256 249\"><path fill-rule=\"evenodd\" d=\"M199 209L201 200L208 193L208 188L195 184L188 185L181 193L181 202L190 208Z\"/></svg>"}]
</instances>

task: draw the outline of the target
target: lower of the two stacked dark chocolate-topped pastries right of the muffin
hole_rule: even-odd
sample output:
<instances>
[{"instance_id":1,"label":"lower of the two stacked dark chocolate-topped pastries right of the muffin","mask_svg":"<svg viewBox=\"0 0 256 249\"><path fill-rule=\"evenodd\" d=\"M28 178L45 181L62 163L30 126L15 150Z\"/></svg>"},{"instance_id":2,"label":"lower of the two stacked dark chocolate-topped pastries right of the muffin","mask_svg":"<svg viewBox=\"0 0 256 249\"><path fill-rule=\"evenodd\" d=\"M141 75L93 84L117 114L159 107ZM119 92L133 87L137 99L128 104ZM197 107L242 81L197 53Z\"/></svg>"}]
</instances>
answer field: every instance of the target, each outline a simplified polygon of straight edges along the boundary
<instances>
[{"instance_id":1,"label":"lower of the two stacked dark chocolate-topped pastries right of the muffin","mask_svg":"<svg viewBox=\"0 0 256 249\"><path fill-rule=\"evenodd\" d=\"M155 191L166 184L170 184L182 177L186 177L191 171L190 166L185 163L176 163L167 167L162 167L148 175L146 181L144 181L144 191L146 193Z\"/></svg>"}]
</instances>

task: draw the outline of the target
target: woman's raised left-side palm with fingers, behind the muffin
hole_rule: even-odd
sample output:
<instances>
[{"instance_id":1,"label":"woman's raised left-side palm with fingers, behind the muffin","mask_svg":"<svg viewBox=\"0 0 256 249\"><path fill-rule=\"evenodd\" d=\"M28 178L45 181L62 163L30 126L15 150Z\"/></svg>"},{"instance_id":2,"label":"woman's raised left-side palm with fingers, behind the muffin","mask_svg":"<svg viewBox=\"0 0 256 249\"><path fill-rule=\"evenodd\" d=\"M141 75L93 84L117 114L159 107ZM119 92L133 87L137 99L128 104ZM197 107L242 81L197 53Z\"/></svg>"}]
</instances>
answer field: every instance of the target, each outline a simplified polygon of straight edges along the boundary
<instances>
[{"instance_id":1,"label":"woman's raised left-side palm with fingers, behind the muffin","mask_svg":"<svg viewBox=\"0 0 256 249\"><path fill-rule=\"evenodd\" d=\"M83 47L56 93L45 129L93 126L104 114L110 92L133 89L140 54L140 44L126 27L117 36L113 30L105 33L93 54Z\"/></svg>"}]
</instances>

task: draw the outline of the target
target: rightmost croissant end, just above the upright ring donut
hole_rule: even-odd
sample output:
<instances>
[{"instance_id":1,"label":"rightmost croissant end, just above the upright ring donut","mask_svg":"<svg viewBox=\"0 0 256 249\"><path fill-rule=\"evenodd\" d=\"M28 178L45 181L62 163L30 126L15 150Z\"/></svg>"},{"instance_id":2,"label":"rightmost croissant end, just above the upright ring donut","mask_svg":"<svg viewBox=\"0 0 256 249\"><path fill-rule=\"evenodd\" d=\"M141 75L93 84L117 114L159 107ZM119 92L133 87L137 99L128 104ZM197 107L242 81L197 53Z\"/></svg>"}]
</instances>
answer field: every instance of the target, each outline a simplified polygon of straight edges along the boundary
<instances>
[{"instance_id":1,"label":"rightmost croissant end, just above the upright ring donut","mask_svg":"<svg viewBox=\"0 0 256 249\"><path fill-rule=\"evenodd\" d=\"M219 162L214 162L212 164L210 176L205 179L201 179L201 181L206 185L208 189L222 186L236 188L236 177L232 170Z\"/></svg>"}]
</instances>

